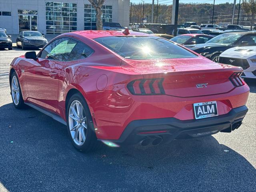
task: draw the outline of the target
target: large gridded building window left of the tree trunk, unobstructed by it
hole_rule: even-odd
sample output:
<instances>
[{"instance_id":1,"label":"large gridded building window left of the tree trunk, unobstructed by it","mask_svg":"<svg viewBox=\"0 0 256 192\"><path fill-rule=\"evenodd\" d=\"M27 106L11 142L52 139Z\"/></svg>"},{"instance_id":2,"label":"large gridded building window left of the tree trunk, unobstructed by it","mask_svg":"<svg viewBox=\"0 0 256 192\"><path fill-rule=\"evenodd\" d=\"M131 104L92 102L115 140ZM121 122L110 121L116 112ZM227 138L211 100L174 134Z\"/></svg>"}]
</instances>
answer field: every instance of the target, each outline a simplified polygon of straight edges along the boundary
<instances>
[{"instance_id":1,"label":"large gridded building window left of the tree trunk, unobstructed by it","mask_svg":"<svg viewBox=\"0 0 256 192\"><path fill-rule=\"evenodd\" d=\"M77 30L77 4L45 2L46 34L62 34Z\"/></svg>"}]
</instances>

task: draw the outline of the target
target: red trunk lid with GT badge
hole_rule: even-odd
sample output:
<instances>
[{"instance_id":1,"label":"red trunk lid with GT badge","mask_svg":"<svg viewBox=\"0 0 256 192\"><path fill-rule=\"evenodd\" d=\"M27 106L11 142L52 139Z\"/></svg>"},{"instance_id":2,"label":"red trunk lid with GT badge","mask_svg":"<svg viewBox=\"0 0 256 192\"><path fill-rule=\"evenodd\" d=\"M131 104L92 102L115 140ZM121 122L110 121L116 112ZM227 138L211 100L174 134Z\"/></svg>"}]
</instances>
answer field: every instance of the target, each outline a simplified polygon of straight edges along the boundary
<instances>
[{"instance_id":1,"label":"red trunk lid with GT badge","mask_svg":"<svg viewBox=\"0 0 256 192\"><path fill-rule=\"evenodd\" d=\"M229 77L239 67L214 63L206 58L168 60L124 60L122 68L144 79L164 78L164 92L170 96L194 97L222 94L234 89Z\"/></svg>"}]
</instances>

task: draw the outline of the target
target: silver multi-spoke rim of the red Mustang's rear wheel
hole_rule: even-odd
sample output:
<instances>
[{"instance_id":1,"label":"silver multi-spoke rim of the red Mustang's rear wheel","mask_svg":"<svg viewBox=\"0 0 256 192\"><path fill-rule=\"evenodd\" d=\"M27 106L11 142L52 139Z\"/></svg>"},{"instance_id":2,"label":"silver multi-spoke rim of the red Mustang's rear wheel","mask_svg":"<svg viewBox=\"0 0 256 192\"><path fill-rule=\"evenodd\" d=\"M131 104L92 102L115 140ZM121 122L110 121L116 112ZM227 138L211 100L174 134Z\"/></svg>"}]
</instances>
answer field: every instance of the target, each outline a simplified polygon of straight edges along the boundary
<instances>
[{"instance_id":1,"label":"silver multi-spoke rim of the red Mustang's rear wheel","mask_svg":"<svg viewBox=\"0 0 256 192\"><path fill-rule=\"evenodd\" d=\"M70 105L68 124L73 141L82 146L86 139L87 121L84 108L78 100L74 100Z\"/></svg>"}]
</instances>

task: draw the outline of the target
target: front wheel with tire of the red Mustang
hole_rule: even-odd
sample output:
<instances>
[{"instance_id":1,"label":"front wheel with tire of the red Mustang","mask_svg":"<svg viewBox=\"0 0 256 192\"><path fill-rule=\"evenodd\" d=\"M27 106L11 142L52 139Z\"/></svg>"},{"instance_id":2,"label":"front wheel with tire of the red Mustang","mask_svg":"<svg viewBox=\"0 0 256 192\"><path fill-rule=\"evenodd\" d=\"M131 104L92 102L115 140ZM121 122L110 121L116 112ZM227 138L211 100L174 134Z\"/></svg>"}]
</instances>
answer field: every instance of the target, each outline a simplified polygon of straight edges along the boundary
<instances>
[{"instance_id":1,"label":"front wheel with tire of the red Mustang","mask_svg":"<svg viewBox=\"0 0 256 192\"><path fill-rule=\"evenodd\" d=\"M16 107L17 109L24 108L24 100L22 98L22 92L20 90L20 83L18 80L18 76L15 72L13 72L11 76L11 94L14 107Z\"/></svg>"}]
</instances>

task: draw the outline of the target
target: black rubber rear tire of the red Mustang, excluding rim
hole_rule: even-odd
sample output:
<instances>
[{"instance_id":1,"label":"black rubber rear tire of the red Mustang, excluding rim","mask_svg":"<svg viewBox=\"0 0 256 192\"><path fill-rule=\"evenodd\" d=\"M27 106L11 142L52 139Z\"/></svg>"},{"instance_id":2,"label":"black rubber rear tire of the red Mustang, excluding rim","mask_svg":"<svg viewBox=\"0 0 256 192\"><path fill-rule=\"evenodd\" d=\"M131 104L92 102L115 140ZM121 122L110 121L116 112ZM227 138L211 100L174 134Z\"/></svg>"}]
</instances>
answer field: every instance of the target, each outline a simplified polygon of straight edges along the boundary
<instances>
[{"instance_id":1,"label":"black rubber rear tire of the red Mustang, excluding rim","mask_svg":"<svg viewBox=\"0 0 256 192\"><path fill-rule=\"evenodd\" d=\"M87 122L86 138L85 138L84 143L81 146L77 145L74 142L73 137L70 132L70 127L69 127L68 113L70 110L70 105L75 100L78 100L82 104L82 106L84 108L84 113L86 115L86 122ZM67 105L67 109L66 109L66 122L67 122L67 128L68 128L68 135L70 136L73 146L77 150L79 150L81 152L91 152L91 151L98 149L98 147L100 146L100 142L97 140L97 137L96 137L96 134L94 131L93 122L92 122L92 116L90 114L90 110L89 110L88 105L87 105L84 97L82 96L82 94L76 93L76 94L72 95L70 100L68 101L68 105Z\"/></svg>"}]
</instances>

